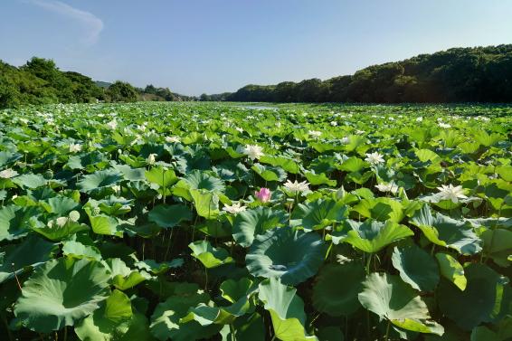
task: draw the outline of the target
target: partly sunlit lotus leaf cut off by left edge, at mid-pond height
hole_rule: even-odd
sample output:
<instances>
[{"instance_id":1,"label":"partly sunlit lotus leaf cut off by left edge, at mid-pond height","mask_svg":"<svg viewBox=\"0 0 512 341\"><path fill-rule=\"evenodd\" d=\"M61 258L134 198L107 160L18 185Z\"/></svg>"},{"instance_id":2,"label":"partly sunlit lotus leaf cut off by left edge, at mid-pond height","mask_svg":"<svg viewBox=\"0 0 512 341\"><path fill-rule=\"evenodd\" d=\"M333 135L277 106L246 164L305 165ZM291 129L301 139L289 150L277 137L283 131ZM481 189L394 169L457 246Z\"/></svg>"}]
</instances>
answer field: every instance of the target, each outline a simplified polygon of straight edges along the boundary
<instances>
[{"instance_id":1,"label":"partly sunlit lotus leaf cut off by left edge, at mid-pond height","mask_svg":"<svg viewBox=\"0 0 512 341\"><path fill-rule=\"evenodd\" d=\"M37 207L7 205L0 208L0 242L24 237L30 228L29 221L38 213Z\"/></svg>"}]
</instances>

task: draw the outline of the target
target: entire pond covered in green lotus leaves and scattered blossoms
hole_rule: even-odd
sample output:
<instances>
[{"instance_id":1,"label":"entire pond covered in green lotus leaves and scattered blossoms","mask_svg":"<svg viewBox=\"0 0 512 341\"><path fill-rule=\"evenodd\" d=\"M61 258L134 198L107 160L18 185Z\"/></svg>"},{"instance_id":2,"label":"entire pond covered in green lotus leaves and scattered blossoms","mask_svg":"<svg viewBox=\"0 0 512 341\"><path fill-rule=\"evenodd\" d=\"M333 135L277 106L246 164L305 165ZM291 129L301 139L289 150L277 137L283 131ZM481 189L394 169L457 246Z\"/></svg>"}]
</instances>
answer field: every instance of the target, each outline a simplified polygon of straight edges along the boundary
<instances>
[{"instance_id":1,"label":"entire pond covered in green lotus leaves and scattered blossoms","mask_svg":"<svg viewBox=\"0 0 512 341\"><path fill-rule=\"evenodd\" d=\"M512 108L0 112L3 340L510 340Z\"/></svg>"}]
</instances>

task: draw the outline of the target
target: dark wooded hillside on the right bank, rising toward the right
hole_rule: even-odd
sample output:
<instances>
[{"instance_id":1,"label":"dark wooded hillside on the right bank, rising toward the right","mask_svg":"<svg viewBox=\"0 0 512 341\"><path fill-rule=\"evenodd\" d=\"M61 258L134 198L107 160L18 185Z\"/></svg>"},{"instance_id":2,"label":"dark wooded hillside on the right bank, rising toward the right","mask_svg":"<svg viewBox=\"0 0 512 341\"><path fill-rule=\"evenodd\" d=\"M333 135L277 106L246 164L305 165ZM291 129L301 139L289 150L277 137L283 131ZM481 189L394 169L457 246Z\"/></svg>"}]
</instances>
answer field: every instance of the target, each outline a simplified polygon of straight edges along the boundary
<instances>
[{"instance_id":1,"label":"dark wooded hillside on the right bank, rising toward the right","mask_svg":"<svg viewBox=\"0 0 512 341\"><path fill-rule=\"evenodd\" d=\"M511 102L512 45L458 48L388 62L351 76L247 85L227 96L258 102Z\"/></svg>"}]
</instances>

